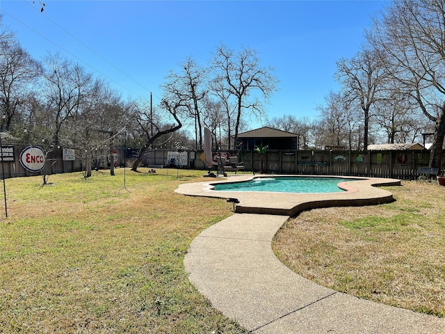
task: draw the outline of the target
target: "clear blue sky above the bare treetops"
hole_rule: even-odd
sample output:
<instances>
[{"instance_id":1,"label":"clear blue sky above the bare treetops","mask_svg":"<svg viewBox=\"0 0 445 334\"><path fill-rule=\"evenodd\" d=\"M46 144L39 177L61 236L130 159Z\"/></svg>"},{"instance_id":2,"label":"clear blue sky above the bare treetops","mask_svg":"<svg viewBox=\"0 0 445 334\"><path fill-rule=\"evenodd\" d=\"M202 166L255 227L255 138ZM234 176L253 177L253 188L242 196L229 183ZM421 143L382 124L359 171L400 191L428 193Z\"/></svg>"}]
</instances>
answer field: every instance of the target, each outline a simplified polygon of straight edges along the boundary
<instances>
[{"instance_id":1,"label":"clear blue sky above the bare treetops","mask_svg":"<svg viewBox=\"0 0 445 334\"><path fill-rule=\"evenodd\" d=\"M222 42L250 47L274 67L278 91L269 118L318 116L334 81L336 62L364 42L371 15L384 1L65 1L1 0L3 26L34 58L72 58L103 77L122 97L153 93L188 56L206 65ZM258 123L256 125L261 125Z\"/></svg>"}]
</instances>

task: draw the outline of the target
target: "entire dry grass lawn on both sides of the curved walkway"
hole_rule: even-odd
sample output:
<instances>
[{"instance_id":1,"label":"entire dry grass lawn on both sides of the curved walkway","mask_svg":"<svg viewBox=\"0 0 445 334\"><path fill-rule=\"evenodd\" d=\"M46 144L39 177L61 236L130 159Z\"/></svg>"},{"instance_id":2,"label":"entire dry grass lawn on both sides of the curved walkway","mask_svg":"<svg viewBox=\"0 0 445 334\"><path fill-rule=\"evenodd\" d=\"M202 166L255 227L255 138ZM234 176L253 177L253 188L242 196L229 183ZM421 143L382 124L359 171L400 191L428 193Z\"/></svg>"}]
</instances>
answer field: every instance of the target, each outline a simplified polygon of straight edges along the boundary
<instances>
[{"instance_id":1,"label":"entire dry grass lawn on both sides of the curved walkway","mask_svg":"<svg viewBox=\"0 0 445 334\"><path fill-rule=\"evenodd\" d=\"M127 189L115 173L6 180L0 333L247 333L196 291L183 264L232 205L174 193L205 180L200 170L127 170ZM444 317L445 187L389 190L391 204L303 212L277 234L275 253L321 285Z\"/></svg>"}]
</instances>

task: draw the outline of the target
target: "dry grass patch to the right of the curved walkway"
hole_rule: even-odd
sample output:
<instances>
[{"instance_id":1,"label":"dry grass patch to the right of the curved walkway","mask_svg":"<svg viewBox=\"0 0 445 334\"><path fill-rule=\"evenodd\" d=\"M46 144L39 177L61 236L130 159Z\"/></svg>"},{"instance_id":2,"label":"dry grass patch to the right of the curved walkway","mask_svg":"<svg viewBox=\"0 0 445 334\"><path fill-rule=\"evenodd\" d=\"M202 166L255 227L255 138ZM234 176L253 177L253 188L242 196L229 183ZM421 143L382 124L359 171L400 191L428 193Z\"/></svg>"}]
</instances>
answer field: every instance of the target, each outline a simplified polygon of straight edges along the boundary
<instances>
[{"instance_id":1,"label":"dry grass patch to the right of the curved walkway","mask_svg":"<svg viewBox=\"0 0 445 334\"><path fill-rule=\"evenodd\" d=\"M363 299L445 316L445 187L402 182L396 202L302 212L273 248L316 283Z\"/></svg>"}]
</instances>

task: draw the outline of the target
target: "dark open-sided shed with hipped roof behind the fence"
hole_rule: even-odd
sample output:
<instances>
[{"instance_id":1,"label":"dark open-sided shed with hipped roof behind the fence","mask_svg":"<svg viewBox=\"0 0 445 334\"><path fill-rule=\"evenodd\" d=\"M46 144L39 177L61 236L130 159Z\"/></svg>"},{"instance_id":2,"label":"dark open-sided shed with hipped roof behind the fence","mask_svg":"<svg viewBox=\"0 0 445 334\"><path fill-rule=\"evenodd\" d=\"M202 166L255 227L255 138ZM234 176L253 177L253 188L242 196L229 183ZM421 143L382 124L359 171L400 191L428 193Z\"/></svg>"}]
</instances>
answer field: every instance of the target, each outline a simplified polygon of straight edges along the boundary
<instances>
[{"instance_id":1,"label":"dark open-sided shed with hipped roof behind the fence","mask_svg":"<svg viewBox=\"0 0 445 334\"><path fill-rule=\"evenodd\" d=\"M243 148L254 150L259 145L268 146L270 150L298 150L300 135L272 127L260 127L238 134L238 141L243 142Z\"/></svg>"}]
</instances>

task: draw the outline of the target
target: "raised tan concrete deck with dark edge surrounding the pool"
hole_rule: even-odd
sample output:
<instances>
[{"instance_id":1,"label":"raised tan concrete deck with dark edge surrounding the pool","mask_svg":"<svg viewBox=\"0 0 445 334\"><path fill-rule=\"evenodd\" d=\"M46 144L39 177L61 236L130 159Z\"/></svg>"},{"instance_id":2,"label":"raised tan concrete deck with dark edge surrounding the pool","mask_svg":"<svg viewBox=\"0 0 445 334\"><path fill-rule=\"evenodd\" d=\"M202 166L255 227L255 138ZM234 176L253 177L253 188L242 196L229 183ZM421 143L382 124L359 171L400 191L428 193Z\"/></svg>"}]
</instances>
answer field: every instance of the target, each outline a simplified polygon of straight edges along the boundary
<instances>
[{"instance_id":1,"label":"raised tan concrete deck with dark edge surrounding the pool","mask_svg":"<svg viewBox=\"0 0 445 334\"><path fill-rule=\"evenodd\" d=\"M254 177L339 177L355 179L341 182L341 193L275 193L266 191L214 191L211 184L233 183L252 180ZM357 180L361 179L361 180ZM219 177L207 182L180 184L175 192L188 196L204 196L223 199L236 199L236 213L275 214L280 216L296 216L307 209L321 207L345 207L379 205L393 202L390 191L378 186L400 186L401 180L381 177L355 177L338 175L228 175L221 180Z\"/></svg>"}]
</instances>

